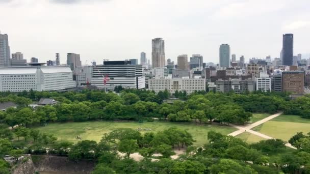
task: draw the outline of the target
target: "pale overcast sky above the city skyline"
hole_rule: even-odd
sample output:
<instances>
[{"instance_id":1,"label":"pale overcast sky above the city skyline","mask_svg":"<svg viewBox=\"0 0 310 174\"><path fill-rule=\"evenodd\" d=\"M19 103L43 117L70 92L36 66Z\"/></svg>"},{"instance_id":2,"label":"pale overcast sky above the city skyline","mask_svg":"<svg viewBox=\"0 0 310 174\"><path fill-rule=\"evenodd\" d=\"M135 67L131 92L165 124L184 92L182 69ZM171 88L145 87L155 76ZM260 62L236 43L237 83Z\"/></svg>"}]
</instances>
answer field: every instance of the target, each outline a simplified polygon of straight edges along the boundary
<instances>
[{"instance_id":1,"label":"pale overcast sky above the city skyline","mask_svg":"<svg viewBox=\"0 0 310 174\"><path fill-rule=\"evenodd\" d=\"M282 34L294 34L294 54L310 56L309 0L0 0L0 31L11 52L30 61L81 54L82 64L104 59L151 59L151 40L165 40L166 60L203 55L218 63L230 53L279 57Z\"/></svg>"}]
</instances>

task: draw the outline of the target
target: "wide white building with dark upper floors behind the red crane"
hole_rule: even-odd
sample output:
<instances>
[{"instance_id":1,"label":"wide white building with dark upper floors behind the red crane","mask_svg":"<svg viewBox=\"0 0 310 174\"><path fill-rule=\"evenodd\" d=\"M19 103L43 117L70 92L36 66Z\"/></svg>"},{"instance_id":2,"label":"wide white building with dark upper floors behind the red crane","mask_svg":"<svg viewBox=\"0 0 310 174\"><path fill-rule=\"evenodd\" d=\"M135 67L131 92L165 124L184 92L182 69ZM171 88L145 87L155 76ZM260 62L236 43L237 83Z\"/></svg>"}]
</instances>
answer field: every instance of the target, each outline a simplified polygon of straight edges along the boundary
<instances>
[{"instance_id":1,"label":"wide white building with dark upper floors behind the red crane","mask_svg":"<svg viewBox=\"0 0 310 174\"><path fill-rule=\"evenodd\" d=\"M144 89L142 65L131 65L130 61L105 61L104 65L93 67L91 84L99 89L107 88L109 91L113 91L116 86Z\"/></svg>"}]
</instances>

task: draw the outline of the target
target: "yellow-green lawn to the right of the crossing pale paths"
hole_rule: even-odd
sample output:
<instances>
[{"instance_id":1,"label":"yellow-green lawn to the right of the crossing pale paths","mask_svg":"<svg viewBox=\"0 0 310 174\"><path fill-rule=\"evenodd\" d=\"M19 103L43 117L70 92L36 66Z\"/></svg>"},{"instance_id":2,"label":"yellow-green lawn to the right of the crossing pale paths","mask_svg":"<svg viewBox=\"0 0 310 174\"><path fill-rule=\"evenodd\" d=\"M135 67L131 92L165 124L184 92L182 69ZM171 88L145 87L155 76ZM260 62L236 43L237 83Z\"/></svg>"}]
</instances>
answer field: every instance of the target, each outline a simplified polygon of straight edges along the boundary
<instances>
[{"instance_id":1,"label":"yellow-green lawn to the right of the crossing pale paths","mask_svg":"<svg viewBox=\"0 0 310 174\"><path fill-rule=\"evenodd\" d=\"M310 120L298 115L280 115L279 117L253 128L273 138L288 141L297 132L310 132Z\"/></svg>"}]
</instances>

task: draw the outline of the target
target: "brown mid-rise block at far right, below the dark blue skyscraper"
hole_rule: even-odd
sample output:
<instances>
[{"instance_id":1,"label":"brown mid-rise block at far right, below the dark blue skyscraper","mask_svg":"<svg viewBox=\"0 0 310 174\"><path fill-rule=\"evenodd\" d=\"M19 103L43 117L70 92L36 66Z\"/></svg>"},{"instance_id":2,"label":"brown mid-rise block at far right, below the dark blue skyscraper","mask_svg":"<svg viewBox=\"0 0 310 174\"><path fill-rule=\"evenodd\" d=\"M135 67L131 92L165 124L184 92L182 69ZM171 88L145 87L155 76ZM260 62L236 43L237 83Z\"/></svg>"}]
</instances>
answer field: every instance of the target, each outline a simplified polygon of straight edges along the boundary
<instances>
[{"instance_id":1,"label":"brown mid-rise block at far right, below the dark blue skyscraper","mask_svg":"<svg viewBox=\"0 0 310 174\"><path fill-rule=\"evenodd\" d=\"M283 71L282 91L293 94L303 94L304 72L303 71Z\"/></svg>"}]
</instances>

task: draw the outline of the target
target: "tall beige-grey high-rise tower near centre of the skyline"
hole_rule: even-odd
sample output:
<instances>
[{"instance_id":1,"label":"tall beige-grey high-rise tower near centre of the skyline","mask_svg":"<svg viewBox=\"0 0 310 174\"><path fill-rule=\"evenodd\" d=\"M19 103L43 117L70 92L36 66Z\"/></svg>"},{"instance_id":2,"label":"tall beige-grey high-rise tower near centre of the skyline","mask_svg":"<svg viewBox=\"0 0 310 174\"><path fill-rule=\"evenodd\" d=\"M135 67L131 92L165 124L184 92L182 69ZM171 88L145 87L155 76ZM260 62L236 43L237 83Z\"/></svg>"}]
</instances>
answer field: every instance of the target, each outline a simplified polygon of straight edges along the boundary
<instances>
[{"instance_id":1,"label":"tall beige-grey high-rise tower near centre of the skyline","mask_svg":"<svg viewBox=\"0 0 310 174\"><path fill-rule=\"evenodd\" d=\"M165 41L162 38L155 38L152 40L152 67L163 68L165 65Z\"/></svg>"}]
</instances>

